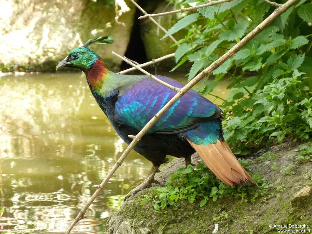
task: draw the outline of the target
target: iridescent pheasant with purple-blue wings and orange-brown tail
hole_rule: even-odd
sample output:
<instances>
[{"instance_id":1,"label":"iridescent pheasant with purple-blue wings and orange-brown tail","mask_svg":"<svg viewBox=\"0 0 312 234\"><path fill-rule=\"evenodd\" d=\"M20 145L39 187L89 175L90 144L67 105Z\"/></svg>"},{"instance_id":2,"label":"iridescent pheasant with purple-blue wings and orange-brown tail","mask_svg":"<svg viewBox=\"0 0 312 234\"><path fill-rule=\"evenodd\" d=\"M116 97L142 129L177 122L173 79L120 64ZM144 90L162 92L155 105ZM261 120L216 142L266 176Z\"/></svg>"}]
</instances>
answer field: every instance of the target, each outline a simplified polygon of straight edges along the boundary
<instances>
[{"instance_id":1,"label":"iridescent pheasant with purple-blue wings and orange-brown tail","mask_svg":"<svg viewBox=\"0 0 312 234\"><path fill-rule=\"evenodd\" d=\"M98 37L87 41L73 49L56 70L61 66L82 70L100 108L118 135L130 144L132 139L128 135L136 135L176 91L149 76L119 75L110 71L101 57L87 48L95 42L112 43L113 38ZM166 76L156 77L178 88L184 86ZM155 182L155 173L167 161L166 155L185 158L189 164L195 151L224 183L232 187L253 183L223 139L221 113L216 105L194 90L182 96L134 147L153 166L132 194Z\"/></svg>"}]
</instances>

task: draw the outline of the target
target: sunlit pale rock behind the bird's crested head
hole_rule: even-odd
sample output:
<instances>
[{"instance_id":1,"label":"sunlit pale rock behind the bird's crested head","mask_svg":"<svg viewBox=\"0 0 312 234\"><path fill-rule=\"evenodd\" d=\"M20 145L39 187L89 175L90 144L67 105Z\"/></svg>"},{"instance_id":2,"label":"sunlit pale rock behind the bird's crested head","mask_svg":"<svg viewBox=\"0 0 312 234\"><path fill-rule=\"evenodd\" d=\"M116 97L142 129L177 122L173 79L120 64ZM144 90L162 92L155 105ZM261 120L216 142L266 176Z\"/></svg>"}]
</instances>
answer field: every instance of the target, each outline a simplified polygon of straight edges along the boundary
<instances>
[{"instance_id":1,"label":"sunlit pale rock behind the bird's crested head","mask_svg":"<svg viewBox=\"0 0 312 234\"><path fill-rule=\"evenodd\" d=\"M111 51L124 55L135 12L126 3L130 11L119 18L124 24L118 24L114 1L1 1L0 71L54 71L71 49L98 36L115 37L111 45L92 48L108 66L119 66L122 61Z\"/></svg>"}]
</instances>

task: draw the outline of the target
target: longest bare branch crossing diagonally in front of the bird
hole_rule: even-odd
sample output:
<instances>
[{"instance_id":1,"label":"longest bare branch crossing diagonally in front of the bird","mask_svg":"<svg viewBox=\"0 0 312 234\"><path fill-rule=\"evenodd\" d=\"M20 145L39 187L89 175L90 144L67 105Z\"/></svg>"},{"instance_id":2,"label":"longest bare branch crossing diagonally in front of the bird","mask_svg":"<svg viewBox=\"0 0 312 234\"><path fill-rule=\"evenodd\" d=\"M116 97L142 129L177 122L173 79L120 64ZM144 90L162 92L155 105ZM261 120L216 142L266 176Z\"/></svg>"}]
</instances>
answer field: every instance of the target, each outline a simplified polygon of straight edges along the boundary
<instances>
[{"instance_id":1,"label":"longest bare branch crossing diagonally in front of the bird","mask_svg":"<svg viewBox=\"0 0 312 234\"><path fill-rule=\"evenodd\" d=\"M185 85L180 91L144 126L144 128L136 135L124 153L120 156L118 161L115 163L114 167L110 170L110 172L106 175L105 179L100 184L99 188L95 191L95 193L90 197L88 203L80 210L79 214L75 218L75 220L71 223L71 226L68 227L65 234L69 234L71 229L75 226L75 224L80 220L80 217L83 217L87 209L90 207L91 203L95 200L95 198L100 194L104 185L109 181L112 175L115 173L117 168L122 164L126 156L129 152L134 148L134 146L138 143L137 140L140 140L145 133L160 119L160 117L179 99L181 98L189 89L191 89L198 81L205 78L209 75L213 70L217 69L222 63L227 61L233 54L241 49L247 42L249 42L252 38L254 38L257 34L259 34L266 26L271 24L273 20L279 17L282 13L284 13L287 9L289 9L292 5L299 2L300 0L288 0L284 4L282 4L278 9L276 9L269 17L267 17L263 22L261 22L254 30L252 30L246 37L241 39L235 46L233 46L229 51L227 51L223 56L221 56L218 60L213 62L209 67L204 69L201 73L194 77L187 85Z\"/></svg>"}]
</instances>

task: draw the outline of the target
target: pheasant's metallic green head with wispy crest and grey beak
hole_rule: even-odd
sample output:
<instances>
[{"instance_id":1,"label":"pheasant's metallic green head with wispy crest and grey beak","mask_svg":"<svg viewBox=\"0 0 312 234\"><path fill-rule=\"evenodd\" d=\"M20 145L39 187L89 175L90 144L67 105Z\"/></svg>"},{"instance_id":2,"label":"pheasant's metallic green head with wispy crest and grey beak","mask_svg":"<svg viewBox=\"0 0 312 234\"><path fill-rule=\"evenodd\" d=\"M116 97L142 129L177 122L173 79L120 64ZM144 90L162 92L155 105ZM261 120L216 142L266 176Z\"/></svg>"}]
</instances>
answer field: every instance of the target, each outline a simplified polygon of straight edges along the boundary
<instances>
[{"instance_id":1,"label":"pheasant's metallic green head with wispy crest and grey beak","mask_svg":"<svg viewBox=\"0 0 312 234\"><path fill-rule=\"evenodd\" d=\"M113 43L113 41L113 37L98 37L87 41L83 46L71 50L66 58L56 66L56 70L65 66L79 68L81 71L86 72L95 63L96 58L98 57L98 55L87 48L87 46L95 42L98 42L99 44L107 44Z\"/></svg>"}]
</instances>

